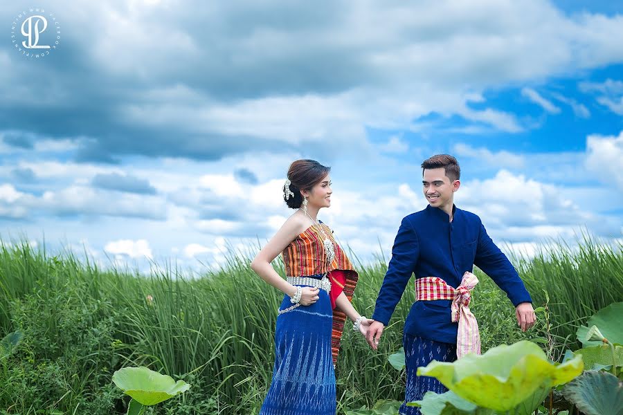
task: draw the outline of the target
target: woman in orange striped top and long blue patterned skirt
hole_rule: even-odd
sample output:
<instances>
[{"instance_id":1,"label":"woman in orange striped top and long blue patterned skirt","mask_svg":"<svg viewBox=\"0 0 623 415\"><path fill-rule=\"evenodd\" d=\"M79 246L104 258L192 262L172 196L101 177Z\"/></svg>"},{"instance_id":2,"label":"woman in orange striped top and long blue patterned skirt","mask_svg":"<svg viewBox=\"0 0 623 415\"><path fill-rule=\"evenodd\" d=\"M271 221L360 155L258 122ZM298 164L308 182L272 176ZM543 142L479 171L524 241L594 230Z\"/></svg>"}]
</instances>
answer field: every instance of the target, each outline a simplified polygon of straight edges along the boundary
<instances>
[{"instance_id":1,"label":"woman in orange striped top and long blue patterned skirt","mask_svg":"<svg viewBox=\"0 0 623 415\"><path fill-rule=\"evenodd\" d=\"M297 160L288 169L284 200L296 212L258 253L251 268L285 294L278 310L273 380L260 415L335 415L334 365L346 315L363 335L372 320L350 304L357 273L318 221L331 205L329 167ZM287 279L271 261L283 255Z\"/></svg>"}]
</instances>

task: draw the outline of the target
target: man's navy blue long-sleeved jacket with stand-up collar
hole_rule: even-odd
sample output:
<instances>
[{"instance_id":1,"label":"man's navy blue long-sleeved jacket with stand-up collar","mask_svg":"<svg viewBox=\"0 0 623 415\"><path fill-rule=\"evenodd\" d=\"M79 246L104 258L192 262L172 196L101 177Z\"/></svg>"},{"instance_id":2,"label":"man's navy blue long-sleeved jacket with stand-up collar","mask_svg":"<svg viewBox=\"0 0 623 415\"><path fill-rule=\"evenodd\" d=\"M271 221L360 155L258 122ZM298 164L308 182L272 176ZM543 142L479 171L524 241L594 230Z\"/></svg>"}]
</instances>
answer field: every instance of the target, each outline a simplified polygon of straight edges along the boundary
<instances>
[{"instance_id":1,"label":"man's navy blue long-sleeved jacket with stand-up collar","mask_svg":"<svg viewBox=\"0 0 623 415\"><path fill-rule=\"evenodd\" d=\"M471 272L474 265L506 292L514 306L532 302L515 268L491 241L476 214L453 206L450 222L446 212L428 205L406 216L396 235L372 318L388 325L412 273L416 278L440 277L456 288L465 271ZM478 290L478 286L474 289ZM414 302L404 332L456 343L458 323L451 322L450 304L448 299Z\"/></svg>"}]
</instances>

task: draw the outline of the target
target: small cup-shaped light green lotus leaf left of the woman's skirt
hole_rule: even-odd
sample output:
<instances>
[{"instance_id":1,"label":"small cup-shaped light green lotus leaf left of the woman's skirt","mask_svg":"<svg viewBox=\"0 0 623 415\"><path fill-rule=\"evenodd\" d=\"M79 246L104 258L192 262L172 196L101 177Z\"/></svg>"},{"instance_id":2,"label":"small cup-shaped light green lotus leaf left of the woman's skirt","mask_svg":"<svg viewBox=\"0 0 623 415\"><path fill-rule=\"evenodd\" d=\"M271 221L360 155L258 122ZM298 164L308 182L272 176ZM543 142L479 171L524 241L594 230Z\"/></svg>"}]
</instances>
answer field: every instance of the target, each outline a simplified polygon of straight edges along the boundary
<instances>
[{"instance_id":1,"label":"small cup-shaped light green lotus leaf left of the woman's skirt","mask_svg":"<svg viewBox=\"0 0 623 415\"><path fill-rule=\"evenodd\" d=\"M124 367L113 374L113 382L141 405L156 405L190 388L183 380L175 382L147 367Z\"/></svg>"}]
</instances>

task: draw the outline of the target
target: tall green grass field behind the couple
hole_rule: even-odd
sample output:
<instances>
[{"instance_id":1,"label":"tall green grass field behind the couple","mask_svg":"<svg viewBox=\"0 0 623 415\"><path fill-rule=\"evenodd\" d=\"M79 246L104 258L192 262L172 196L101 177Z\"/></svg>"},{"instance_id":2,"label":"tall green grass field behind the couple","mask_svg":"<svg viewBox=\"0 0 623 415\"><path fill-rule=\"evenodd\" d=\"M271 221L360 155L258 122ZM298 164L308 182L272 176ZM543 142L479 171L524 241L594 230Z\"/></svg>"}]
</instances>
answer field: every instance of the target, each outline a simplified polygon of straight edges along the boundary
<instances>
[{"instance_id":1,"label":"tall green grass field behind the couple","mask_svg":"<svg viewBox=\"0 0 623 415\"><path fill-rule=\"evenodd\" d=\"M533 260L516 260L535 304L544 302L543 290L550 295L559 350L588 316L623 301L621 248L584 239L577 249L559 243ZM11 407L0 414L120 413L122 396L110 377L125 365L147 365L193 385L158 413L257 413L271 379L282 295L253 273L246 257L232 255L223 270L190 279L172 266L145 277L102 270L69 252L51 257L26 243L0 248L0 337L19 329L27 339L8 362L9 376L0 379L0 408ZM274 265L282 273L282 264ZM357 268L353 302L372 315L386 265L379 259ZM472 310L483 349L544 335L543 324L521 333L505 293L479 277ZM404 374L390 367L387 356L401 346L413 296L408 289L401 299L379 351L345 331L336 369L338 413L403 396ZM45 379L29 371L41 371ZM17 390L22 385L30 388L27 394ZM38 407L24 396L36 398Z\"/></svg>"}]
</instances>

